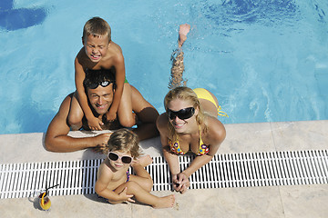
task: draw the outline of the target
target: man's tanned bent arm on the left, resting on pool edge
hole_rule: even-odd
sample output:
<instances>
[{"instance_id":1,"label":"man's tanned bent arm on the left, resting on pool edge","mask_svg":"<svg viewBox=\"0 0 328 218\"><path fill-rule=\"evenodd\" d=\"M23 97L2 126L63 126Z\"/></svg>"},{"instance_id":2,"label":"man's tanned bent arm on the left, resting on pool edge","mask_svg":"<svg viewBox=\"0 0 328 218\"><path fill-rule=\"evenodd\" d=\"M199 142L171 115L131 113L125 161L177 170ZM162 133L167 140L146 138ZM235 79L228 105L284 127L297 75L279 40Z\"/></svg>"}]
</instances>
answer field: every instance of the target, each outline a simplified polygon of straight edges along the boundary
<instances>
[{"instance_id":1,"label":"man's tanned bent arm on the left, resting on pool edge","mask_svg":"<svg viewBox=\"0 0 328 218\"><path fill-rule=\"evenodd\" d=\"M75 152L89 147L105 146L110 134L99 134L95 137L74 138L68 136L69 126L67 115L69 112L72 94L69 94L60 105L58 113L48 126L46 131L46 150L51 152Z\"/></svg>"}]
</instances>

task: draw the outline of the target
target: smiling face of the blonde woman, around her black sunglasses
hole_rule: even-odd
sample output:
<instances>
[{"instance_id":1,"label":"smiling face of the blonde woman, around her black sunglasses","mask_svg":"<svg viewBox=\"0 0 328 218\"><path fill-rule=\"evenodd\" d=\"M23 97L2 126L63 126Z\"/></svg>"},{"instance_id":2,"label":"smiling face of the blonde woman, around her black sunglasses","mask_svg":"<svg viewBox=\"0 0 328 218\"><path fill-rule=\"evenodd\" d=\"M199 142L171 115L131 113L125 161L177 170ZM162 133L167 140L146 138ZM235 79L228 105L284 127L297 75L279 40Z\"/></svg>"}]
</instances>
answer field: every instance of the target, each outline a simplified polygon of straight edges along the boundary
<instances>
[{"instance_id":1,"label":"smiling face of the blonde woman, around her black sunglasses","mask_svg":"<svg viewBox=\"0 0 328 218\"><path fill-rule=\"evenodd\" d=\"M172 99L168 104L168 109L173 112L178 112L179 110L188 107L193 107L190 101L181 100L179 98ZM195 108L195 114L193 114L190 118L182 120L179 116L176 116L174 119L169 119L169 123L172 124L178 134L189 133L190 131L193 131L195 126L197 127L195 116L198 112L198 108Z\"/></svg>"}]
</instances>

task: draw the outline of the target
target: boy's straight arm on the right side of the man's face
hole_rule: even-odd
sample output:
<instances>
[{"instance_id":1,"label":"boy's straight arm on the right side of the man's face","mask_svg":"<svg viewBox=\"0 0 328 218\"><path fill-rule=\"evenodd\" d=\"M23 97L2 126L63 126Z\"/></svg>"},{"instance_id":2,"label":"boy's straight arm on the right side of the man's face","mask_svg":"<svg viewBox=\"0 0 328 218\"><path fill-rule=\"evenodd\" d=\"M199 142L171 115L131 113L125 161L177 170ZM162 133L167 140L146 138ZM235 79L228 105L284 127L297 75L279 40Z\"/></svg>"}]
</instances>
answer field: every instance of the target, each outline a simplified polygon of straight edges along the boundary
<instances>
[{"instance_id":1,"label":"boy's straight arm on the right side of the man's face","mask_svg":"<svg viewBox=\"0 0 328 218\"><path fill-rule=\"evenodd\" d=\"M108 120L116 119L118 113L118 105L120 103L123 94L123 86L126 78L123 55L119 55L116 58L116 60L114 61L114 67L115 67L116 88L115 88L113 103L111 104L107 114Z\"/></svg>"}]
</instances>

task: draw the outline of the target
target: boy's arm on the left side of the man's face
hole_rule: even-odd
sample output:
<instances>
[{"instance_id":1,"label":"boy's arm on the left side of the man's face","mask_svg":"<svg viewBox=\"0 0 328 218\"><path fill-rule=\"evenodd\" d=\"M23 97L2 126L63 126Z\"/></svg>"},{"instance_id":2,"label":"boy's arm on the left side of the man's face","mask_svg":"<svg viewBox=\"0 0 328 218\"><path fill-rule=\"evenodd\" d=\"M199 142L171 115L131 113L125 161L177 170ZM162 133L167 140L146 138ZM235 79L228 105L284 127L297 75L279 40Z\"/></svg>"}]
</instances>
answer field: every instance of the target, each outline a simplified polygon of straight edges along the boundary
<instances>
[{"instance_id":1,"label":"boy's arm on the left side of the man's face","mask_svg":"<svg viewBox=\"0 0 328 218\"><path fill-rule=\"evenodd\" d=\"M78 58L75 59L75 82L77 86L77 101L81 105L81 108L86 115L87 125L91 130L102 130L100 124L102 122L92 114L89 105L87 104L87 94L83 86L83 81L86 78L86 74L83 67L78 62Z\"/></svg>"}]
</instances>

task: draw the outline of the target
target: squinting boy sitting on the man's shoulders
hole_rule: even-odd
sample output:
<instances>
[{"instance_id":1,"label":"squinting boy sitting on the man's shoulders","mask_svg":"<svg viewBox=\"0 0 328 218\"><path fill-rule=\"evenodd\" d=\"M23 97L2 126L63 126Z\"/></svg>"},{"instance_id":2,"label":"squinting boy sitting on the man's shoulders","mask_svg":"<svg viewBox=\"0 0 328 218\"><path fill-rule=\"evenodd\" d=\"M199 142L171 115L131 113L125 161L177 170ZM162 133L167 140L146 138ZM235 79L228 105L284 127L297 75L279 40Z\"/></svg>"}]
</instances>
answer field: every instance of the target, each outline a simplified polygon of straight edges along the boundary
<instances>
[{"instance_id":1,"label":"squinting boy sitting on the man's shoulders","mask_svg":"<svg viewBox=\"0 0 328 218\"><path fill-rule=\"evenodd\" d=\"M87 95L83 87L87 69L100 70L112 69L115 72L116 92L113 104L107 115L108 121L113 121L118 116L118 121L125 127L136 124L135 114L132 113L131 87L125 78L125 66L122 50L119 45L111 41L111 30L108 23L100 17L88 20L83 29L82 44L75 59L75 80L77 92L71 102L68 123L72 130L78 130L83 114L87 118L90 130L102 130L101 120L95 117L87 106Z\"/></svg>"}]
</instances>

